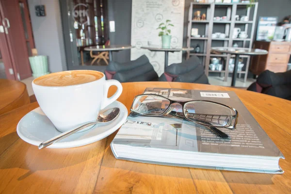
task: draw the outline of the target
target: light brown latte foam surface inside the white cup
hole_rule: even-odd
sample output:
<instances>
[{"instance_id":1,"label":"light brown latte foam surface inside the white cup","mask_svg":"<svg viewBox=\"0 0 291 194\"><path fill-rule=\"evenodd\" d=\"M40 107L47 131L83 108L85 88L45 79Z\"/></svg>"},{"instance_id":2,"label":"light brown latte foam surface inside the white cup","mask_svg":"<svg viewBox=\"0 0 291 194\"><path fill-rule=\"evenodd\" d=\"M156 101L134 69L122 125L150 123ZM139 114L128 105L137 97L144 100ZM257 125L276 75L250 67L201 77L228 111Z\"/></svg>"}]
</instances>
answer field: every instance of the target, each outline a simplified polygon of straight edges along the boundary
<instances>
[{"instance_id":1,"label":"light brown latte foam surface inside the white cup","mask_svg":"<svg viewBox=\"0 0 291 194\"><path fill-rule=\"evenodd\" d=\"M39 78L33 82L41 86L68 86L78 85L99 80L103 74L92 70L74 70L51 73Z\"/></svg>"}]
</instances>

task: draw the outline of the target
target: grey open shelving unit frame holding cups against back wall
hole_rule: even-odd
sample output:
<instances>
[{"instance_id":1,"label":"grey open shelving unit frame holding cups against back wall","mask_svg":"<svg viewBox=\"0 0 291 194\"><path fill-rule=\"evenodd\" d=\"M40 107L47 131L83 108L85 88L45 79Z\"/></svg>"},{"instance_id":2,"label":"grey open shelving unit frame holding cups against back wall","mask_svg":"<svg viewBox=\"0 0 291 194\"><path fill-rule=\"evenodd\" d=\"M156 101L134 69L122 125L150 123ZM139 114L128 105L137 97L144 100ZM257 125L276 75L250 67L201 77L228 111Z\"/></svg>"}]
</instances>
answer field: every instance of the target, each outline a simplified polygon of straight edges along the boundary
<instances>
[{"instance_id":1,"label":"grey open shelving unit frame holding cups against back wall","mask_svg":"<svg viewBox=\"0 0 291 194\"><path fill-rule=\"evenodd\" d=\"M258 2L252 3L254 8L253 13L252 13L252 18L251 16L251 8L247 7L249 3L198 3L198 2L191 2L190 7L189 7L189 16L188 16L188 31L187 31L187 47L191 47L191 43L195 41L204 41L204 47L201 53L193 53L190 51L187 51L187 59L192 56L196 55L199 57L202 57L202 63L205 64L205 73L207 76L209 76L209 72L219 72L224 74L224 81L227 81L228 74L232 73L228 71L228 62L229 59L232 56L231 54L213 54L210 53L211 49L211 44L212 41L223 41L223 46L224 47L232 47L233 41L238 41L240 44L242 44L243 48L251 48L252 47L252 42L254 38L254 32L255 32L255 25L256 25L256 18L257 18L257 11L258 11ZM244 7L246 13L245 16L248 16L250 21L237 21L235 20L235 16L237 15L237 8L239 7ZM214 20L214 12L216 8L221 8L223 7L224 9L226 8L226 20ZM193 20L193 10L199 10L202 8L206 8L206 20ZM202 13L201 13L202 14ZM195 25L205 25L205 37L191 37L191 29L195 28ZM213 31L213 25L225 25L225 34L226 38L212 38L211 34L214 33ZM232 38L233 31L235 28L235 25L243 25L243 28L245 32L248 32L249 25L251 25L251 31L248 34L248 38ZM200 34L203 35L203 34ZM238 43L238 44L239 44ZM248 47L246 47L248 43ZM222 71L211 71L209 69L210 65L210 57L224 57L225 64L224 65L224 70ZM241 77L241 74L244 74L244 81L246 81L247 78L247 73L248 73L248 68L249 68L249 63L250 63L250 56L246 55L241 55L240 58L247 58L246 63L245 63L245 70L243 71L238 71L239 76Z\"/></svg>"}]
</instances>

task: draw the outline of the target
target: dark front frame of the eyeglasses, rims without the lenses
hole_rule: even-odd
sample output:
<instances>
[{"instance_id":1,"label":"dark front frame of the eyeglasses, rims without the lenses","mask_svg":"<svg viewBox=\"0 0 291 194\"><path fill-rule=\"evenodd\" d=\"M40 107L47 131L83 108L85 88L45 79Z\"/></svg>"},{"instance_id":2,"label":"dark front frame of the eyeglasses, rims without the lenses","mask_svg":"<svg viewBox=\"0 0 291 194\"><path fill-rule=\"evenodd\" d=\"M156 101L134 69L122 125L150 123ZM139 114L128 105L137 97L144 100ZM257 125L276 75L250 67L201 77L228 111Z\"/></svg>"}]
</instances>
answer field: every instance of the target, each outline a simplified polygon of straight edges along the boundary
<instances>
[{"instance_id":1,"label":"dark front frame of the eyeglasses, rims without the lenses","mask_svg":"<svg viewBox=\"0 0 291 194\"><path fill-rule=\"evenodd\" d=\"M200 123L199 123L200 125L204 125L204 126L207 126L207 127L215 127L215 128L235 129L235 127L236 127L236 125L237 125L237 123L238 123L239 112L238 112L236 109L234 109L234 108L232 108L231 106L228 106L228 105L226 105L226 104L222 104L222 103L214 102L214 101L210 101L210 100L176 101L176 100L171 100L170 98L164 97L164 96L162 96L162 95L157 95L157 94L141 94L141 95L137 95L137 96L135 96L134 99L133 99L133 102L132 102L132 104L131 104L131 106L130 106L130 111L132 111L132 112L134 112L134 113L137 113L136 111L134 111L134 110L132 109L132 106L133 106L134 101L136 100L136 98L137 98L137 97L141 97L141 96L156 96L156 97L163 97L163 98L165 98L165 99L167 99L167 100L170 101L170 104L169 104L168 108L167 108L163 113L160 113L160 114L139 113L139 114L142 114L142 115L147 115L147 116L161 116L161 115L163 115L164 113L166 113L166 112L170 109L170 107L171 107L172 104L174 104L174 103L178 103L178 104L180 104L180 105L182 106L182 113L183 113L183 115L184 115L184 118L187 119L188 121L191 121L191 122L197 123L197 122L195 122L195 121L193 121L193 120L190 120L189 118L186 117L186 115L185 115L185 113L184 113L184 106L185 106L185 104L187 104L187 103L189 103L189 102L211 102L211 103L218 104L218 105L221 105L221 106L224 106L224 107L226 107L226 108L229 108L229 109L233 110L233 111L235 112L235 116L232 115L232 119L231 119L231 121L230 121L230 124L232 123L233 118L235 119L234 124L233 124L233 125L229 125L229 126L227 126L227 127L224 127L224 126L214 126L214 125L200 124Z\"/></svg>"}]
</instances>

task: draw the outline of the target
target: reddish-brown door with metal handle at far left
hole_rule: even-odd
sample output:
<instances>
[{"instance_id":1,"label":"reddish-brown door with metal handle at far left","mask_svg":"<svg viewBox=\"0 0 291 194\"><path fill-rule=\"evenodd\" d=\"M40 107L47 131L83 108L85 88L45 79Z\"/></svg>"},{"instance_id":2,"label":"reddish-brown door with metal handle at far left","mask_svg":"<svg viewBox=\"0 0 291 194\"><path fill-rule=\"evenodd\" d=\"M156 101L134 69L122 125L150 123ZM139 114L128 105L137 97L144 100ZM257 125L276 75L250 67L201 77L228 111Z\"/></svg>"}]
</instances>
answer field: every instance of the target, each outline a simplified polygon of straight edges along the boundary
<instances>
[{"instance_id":1,"label":"reddish-brown door with metal handle at far left","mask_svg":"<svg viewBox=\"0 0 291 194\"><path fill-rule=\"evenodd\" d=\"M34 48L26 0L0 1L0 50L6 77L23 80L32 76L28 57Z\"/></svg>"}]
</instances>

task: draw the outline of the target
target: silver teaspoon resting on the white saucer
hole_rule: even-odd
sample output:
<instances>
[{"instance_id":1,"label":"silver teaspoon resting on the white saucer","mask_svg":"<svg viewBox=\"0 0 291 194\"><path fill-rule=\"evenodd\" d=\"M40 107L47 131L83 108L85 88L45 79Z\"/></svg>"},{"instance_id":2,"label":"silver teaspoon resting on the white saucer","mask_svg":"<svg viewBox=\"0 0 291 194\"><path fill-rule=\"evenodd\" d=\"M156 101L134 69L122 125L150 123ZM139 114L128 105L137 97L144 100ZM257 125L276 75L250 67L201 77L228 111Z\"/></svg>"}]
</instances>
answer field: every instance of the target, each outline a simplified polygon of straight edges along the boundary
<instances>
[{"instance_id":1,"label":"silver teaspoon resting on the white saucer","mask_svg":"<svg viewBox=\"0 0 291 194\"><path fill-rule=\"evenodd\" d=\"M68 131L65 131L64 133L61 133L59 134L58 136L55 136L43 143L41 143L39 146L38 146L38 149L42 149L42 148L45 148L61 139L64 139L65 137L73 134L73 133L76 133L78 132L79 130L82 130L82 129L85 129L86 127L89 127L91 125L95 125L97 123L107 123L107 122L110 122L110 121L113 121L115 118L117 118L117 116L119 115L120 113L120 110L119 108L112 108L112 109L109 109L107 111L105 111L104 113L101 113L98 118L97 118L97 121L94 121L94 122L91 122L91 123L87 123L85 125L82 125L81 127L79 128L76 128L76 129L72 129L72 130L68 130Z\"/></svg>"}]
</instances>

